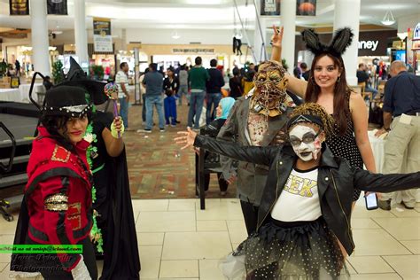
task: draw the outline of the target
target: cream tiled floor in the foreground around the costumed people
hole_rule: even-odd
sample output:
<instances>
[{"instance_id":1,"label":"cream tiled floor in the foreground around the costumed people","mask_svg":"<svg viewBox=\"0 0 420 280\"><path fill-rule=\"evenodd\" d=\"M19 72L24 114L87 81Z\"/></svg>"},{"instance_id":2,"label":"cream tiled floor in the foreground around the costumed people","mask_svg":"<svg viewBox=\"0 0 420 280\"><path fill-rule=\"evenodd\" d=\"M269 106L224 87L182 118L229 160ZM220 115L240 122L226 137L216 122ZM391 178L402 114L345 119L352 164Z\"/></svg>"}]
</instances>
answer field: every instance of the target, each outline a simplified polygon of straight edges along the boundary
<instances>
[{"instance_id":1,"label":"cream tiled floor in the foreground around the costumed people","mask_svg":"<svg viewBox=\"0 0 420 280\"><path fill-rule=\"evenodd\" d=\"M218 261L246 237L237 199L207 199L204 211L198 199L133 200L133 208L142 279L224 279ZM352 279L420 279L420 204L367 211L360 200L352 224ZM0 220L0 244L12 243L15 226ZM0 279L16 278L9 261L0 254Z\"/></svg>"}]
</instances>

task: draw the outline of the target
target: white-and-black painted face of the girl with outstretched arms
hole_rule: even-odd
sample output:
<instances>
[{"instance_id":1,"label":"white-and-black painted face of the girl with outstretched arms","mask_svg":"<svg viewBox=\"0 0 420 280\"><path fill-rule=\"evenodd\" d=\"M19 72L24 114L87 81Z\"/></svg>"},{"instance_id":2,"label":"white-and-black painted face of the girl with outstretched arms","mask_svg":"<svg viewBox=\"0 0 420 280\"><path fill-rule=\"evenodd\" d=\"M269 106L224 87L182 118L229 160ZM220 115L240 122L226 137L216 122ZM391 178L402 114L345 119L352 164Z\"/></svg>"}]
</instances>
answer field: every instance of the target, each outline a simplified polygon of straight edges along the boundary
<instances>
[{"instance_id":1,"label":"white-and-black painted face of the girl with outstretched arms","mask_svg":"<svg viewBox=\"0 0 420 280\"><path fill-rule=\"evenodd\" d=\"M293 151L303 161L309 161L318 158L322 143L314 128L304 124L298 124L289 132L290 142Z\"/></svg>"}]
</instances>

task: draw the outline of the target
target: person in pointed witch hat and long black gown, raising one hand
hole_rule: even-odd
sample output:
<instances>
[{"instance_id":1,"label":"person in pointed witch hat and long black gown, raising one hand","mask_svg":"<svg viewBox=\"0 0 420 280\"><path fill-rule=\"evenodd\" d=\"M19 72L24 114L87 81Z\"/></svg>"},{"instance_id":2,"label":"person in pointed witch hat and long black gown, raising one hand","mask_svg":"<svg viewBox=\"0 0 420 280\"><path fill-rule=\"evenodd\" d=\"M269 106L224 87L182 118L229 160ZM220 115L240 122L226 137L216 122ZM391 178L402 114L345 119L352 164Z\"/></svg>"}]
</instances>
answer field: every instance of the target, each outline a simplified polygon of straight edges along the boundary
<instances>
[{"instance_id":1,"label":"person in pointed witch hat and long black gown, raising one hand","mask_svg":"<svg viewBox=\"0 0 420 280\"><path fill-rule=\"evenodd\" d=\"M82 87L94 104L87 128L91 142L87 159L92 169L96 230L91 231L97 256L104 258L101 279L139 279L140 260L136 226L129 192L124 124L113 116L104 92L105 83L90 80L74 59L62 84Z\"/></svg>"}]
</instances>

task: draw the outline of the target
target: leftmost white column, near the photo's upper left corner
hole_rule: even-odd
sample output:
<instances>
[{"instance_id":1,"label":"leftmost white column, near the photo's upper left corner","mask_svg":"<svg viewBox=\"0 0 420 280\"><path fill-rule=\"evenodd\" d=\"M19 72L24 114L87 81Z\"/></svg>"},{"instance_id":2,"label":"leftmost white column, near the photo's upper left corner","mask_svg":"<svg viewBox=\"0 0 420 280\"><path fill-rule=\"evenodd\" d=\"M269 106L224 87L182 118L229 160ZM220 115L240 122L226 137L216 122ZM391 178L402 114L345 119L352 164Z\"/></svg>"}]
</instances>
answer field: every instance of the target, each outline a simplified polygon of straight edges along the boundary
<instances>
[{"instance_id":1,"label":"leftmost white column, near the photo's upper left corner","mask_svg":"<svg viewBox=\"0 0 420 280\"><path fill-rule=\"evenodd\" d=\"M51 70L50 52L48 51L47 2L44 0L31 0L29 3L34 70L43 75L49 75Z\"/></svg>"}]
</instances>

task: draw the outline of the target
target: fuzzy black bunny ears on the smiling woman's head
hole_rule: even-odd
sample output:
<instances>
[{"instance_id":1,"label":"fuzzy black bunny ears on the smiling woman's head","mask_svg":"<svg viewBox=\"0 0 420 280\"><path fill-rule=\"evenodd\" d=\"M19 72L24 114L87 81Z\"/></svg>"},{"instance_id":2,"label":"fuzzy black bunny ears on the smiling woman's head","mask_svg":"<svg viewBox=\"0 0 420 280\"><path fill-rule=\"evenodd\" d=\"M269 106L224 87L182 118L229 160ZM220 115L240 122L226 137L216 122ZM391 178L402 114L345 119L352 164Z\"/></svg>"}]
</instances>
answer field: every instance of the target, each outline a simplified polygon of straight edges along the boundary
<instances>
[{"instance_id":1,"label":"fuzzy black bunny ears on the smiling woman's head","mask_svg":"<svg viewBox=\"0 0 420 280\"><path fill-rule=\"evenodd\" d=\"M303 42L306 43L307 49L312 51L315 56L323 53L330 53L334 57L340 58L347 47L352 43L353 36L352 29L344 27L336 31L330 45L325 45L319 41L319 36L313 29L305 29L302 31Z\"/></svg>"}]
</instances>

